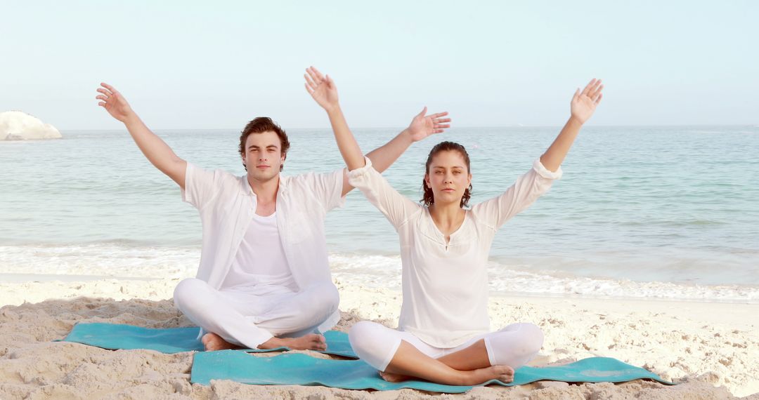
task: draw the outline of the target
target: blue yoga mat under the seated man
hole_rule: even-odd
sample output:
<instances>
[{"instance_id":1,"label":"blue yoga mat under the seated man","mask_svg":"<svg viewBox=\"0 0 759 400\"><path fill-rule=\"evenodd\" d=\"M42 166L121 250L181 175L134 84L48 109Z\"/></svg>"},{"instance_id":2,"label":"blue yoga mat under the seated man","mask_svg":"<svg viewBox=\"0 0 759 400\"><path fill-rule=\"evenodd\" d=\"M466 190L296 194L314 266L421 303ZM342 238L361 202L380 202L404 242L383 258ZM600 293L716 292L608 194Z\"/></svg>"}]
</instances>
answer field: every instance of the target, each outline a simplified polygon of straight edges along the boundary
<instances>
[{"instance_id":1,"label":"blue yoga mat under the seated man","mask_svg":"<svg viewBox=\"0 0 759 400\"><path fill-rule=\"evenodd\" d=\"M162 353L203 352L197 340L198 327L143 328L121 323L77 323L62 342L76 342L109 350L155 350ZM348 342L348 334L329 330L324 333L327 349L323 353L358 358ZM244 352L276 352L289 348L246 348Z\"/></svg>"}]
</instances>

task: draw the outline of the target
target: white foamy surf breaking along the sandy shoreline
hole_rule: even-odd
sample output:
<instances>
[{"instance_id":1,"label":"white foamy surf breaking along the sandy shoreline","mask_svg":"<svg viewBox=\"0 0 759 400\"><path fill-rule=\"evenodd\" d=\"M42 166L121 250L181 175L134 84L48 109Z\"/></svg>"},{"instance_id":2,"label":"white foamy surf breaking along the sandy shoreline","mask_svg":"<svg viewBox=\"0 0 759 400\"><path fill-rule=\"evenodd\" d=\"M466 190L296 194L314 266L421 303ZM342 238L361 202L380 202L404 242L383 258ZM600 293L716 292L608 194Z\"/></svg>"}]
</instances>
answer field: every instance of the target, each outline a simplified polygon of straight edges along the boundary
<instances>
[{"instance_id":1,"label":"white foamy surf breaking along the sandy shoreline","mask_svg":"<svg viewBox=\"0 0 759 400\"><path fill-rule=\"evenodd\" d=\"M87 245L0 246L0 272L40 275L77 275L132 278L193 277L200 261L200 246L134 246L131 241ZM402 265L398 255L361 252L329 254L332 277L342 286L401 289ZM557 270L569 263L567 270ZM552 269L537 270L529 260L491 261L490 290L494 294L557 295L670 299L707 302L759 303L759 285L702 285L662 280L634 281L619 277L581 277L579 261L556 258ZM673 264L682 264L672 260Z\"/></svg>"}]
</instances>

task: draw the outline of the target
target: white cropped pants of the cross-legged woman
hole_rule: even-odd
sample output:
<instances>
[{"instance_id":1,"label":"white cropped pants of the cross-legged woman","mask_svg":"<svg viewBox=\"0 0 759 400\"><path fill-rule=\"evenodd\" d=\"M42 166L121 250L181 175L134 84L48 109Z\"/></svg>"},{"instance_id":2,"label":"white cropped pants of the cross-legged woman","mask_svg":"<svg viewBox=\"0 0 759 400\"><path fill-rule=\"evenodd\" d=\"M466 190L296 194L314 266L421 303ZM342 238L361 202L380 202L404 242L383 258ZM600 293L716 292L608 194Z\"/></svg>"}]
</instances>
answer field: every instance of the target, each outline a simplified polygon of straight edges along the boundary
<instances>
[{"instance_id":1,"label":"white cropped pants of the cross-legged woman","mask_svg":"<svg viewBox=\"0 0 759 400\"><path fill-rule=\"evenodd\" d=\"M512 323L502 330L474 336L467 342L452 348L428 345L411 333L393 330L370 321L356 323L348 332L348 340L356 355L381 371L390 364L402 340L425 355L441 358L468 348L480 339L485 341L490 365L508 365L516 370L530 362L537 352L540 352L543 346L543 331L532 323Z\"/></svg>"}]
</instances>

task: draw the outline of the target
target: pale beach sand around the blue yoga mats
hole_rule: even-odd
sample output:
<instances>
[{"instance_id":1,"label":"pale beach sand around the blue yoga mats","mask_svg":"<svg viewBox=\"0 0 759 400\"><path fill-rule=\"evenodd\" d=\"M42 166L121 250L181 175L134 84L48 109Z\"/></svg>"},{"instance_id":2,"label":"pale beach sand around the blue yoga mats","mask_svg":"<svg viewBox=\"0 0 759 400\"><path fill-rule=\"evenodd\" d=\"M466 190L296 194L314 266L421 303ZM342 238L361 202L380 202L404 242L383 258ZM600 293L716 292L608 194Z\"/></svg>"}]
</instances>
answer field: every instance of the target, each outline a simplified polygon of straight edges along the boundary
<instances>
[{"instance_id":1,"label":"pale beach sand around the blue yoga mats","mask_svg":"<svg viewBox=\"0 0 759 400\"><path fill-rule=\"evenodd\" d=\"M192 385L189 352L114 352L52 342L81 321L143 327L191 325L171 301L178 279L77 279L0 283L0 398L759 399L759 305L493 296L493 329L528 321L545 331L543 349L531 364L614 357L679 385L644 380L581 385L539 382L437 395L411 389L370 392L229 381ZM395 326L399 292L338 286L342 320L336 329L348 330L364 319Z\"/></svg>"}]
</instances>

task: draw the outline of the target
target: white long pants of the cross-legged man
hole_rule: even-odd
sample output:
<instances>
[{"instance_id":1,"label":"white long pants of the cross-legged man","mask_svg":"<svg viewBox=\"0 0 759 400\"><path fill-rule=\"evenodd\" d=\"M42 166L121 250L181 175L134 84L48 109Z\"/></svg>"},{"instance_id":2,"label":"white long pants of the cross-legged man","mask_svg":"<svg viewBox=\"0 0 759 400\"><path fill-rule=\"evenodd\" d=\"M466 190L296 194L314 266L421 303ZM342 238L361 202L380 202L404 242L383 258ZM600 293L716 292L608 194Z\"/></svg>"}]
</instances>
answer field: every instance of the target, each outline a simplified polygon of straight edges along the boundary
<instances>
[{"instance_id":1,"label":"white long pants of the cross-legged man","mask_svg":"<svg viewBox=\"0 0 759 400\"><path fill-rule=\"evenodd\" d=\"M174 304L206 332L235 345L257 348L272 336L313 333L337 310L339 294L331 284L301 292L254 295L213 289L196 278L174 289Z\"/></svg>"}]
</instances>

